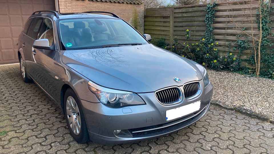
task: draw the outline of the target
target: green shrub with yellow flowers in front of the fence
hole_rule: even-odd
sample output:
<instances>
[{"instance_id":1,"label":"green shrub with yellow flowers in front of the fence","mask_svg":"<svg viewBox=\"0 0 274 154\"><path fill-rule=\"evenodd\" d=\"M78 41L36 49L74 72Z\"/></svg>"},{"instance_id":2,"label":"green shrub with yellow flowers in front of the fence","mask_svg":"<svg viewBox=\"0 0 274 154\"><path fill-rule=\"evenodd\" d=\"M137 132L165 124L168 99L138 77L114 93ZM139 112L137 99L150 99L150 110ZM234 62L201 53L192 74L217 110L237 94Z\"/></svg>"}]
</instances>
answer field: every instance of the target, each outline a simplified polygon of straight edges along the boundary
<instances>
[{"instance_id":1,"label":"green shrub with yellow flowers in front of the fence","mask_svg":"<svg viewBox=\"0 0 274 154\"><path fill-rule=\"evenodd\" d=\"M190 31L187 29L186 42L179 43L178 38L175 37L171 44L167 44L165 49L214 70L237 71L241 68L239 58L236 58L233 53L227 52L225 56L219 56L218 42L206 45L208 41L202 38L200 42L190 44L188 42L189 38Z\"/></svg>"}]
</instances>

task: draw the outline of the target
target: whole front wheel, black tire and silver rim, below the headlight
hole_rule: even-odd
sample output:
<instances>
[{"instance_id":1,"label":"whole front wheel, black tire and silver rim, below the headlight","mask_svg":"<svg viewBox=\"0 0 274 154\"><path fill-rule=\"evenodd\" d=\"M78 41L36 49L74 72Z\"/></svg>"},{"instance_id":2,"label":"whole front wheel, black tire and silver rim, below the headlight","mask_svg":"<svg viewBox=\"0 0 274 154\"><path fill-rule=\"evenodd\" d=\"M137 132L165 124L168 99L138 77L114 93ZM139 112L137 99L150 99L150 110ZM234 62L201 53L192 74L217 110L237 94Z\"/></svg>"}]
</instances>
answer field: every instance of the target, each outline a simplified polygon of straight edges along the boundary
<instances>
[{"instance_id":1,"label":"whole front wheel, black tire and silver rim, below the headlight","mask_svg":"<svg viewBox=\"0 0 274 154\"><path fill-rule=\"evenodd\" d=\"M70 135L78 143L89 141L86 120L78 97L75 92L68 88L64 97L64 113ZM80 128L80 129L79 129Z\"/></svg>"}]
</instances>

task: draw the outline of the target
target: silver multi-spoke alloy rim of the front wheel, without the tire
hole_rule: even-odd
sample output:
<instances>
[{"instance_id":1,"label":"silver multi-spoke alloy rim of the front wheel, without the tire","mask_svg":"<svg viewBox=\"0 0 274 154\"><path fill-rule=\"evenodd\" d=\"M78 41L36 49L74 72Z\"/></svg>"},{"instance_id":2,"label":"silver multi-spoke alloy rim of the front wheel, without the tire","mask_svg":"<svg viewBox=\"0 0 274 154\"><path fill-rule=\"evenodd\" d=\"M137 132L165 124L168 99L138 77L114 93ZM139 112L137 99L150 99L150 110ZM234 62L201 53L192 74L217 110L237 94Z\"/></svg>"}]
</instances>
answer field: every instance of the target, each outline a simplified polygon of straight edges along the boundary
<instances>
[{"instance_id":1,"label":"silver multi-spoke alloy rim of the front wheel, without the tire","mask_svg":"<svg viewBox=\"0 0 274 154\"><path fill-rule=\"evenodd\" d=\"M66 111L68 123L70 125L71 130L75 135L78 135L81 130L81 117L79 108L72 96L68 96L67 98Z\"/></svg>"}]
</instances>

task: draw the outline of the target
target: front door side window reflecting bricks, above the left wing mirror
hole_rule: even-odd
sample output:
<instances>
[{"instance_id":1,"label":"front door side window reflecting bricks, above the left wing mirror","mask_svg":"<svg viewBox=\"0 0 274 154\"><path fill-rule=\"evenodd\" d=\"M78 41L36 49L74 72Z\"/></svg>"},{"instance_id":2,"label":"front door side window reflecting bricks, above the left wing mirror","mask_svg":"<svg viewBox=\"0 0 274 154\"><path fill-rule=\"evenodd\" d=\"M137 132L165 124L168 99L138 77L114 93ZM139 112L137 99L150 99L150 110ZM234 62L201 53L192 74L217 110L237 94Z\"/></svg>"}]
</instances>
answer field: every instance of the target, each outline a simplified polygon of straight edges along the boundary
<instances>
[{"instance_id":1,"label":"front door side window reflecting bricks, above the left wing mirror","mask_svg":"<svg viewBox=\"0 0 274 154\"><path fill-rule=\"evenodd\" d=\"M48 18L45 18L38 35L38 39L45 39L45 38L49 40L49 46L51 46L54 39L53 25L51 20Z\"/></svg>"}]
</instances>

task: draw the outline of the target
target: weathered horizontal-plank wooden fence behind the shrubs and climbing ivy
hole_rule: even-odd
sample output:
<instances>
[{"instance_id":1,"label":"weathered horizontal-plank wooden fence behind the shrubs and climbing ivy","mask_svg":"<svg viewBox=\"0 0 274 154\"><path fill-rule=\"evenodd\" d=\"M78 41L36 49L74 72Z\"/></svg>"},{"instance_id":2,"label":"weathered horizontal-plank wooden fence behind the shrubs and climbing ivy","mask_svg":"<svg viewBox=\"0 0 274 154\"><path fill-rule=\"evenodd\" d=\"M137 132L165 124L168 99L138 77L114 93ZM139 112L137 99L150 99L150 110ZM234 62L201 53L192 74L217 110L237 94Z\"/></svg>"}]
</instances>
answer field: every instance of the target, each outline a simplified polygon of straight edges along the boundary
<instances>
[{"instance_id":1,"label":"weathered horizontal-plank wooden fence behind the shrubs and climbing ivy","mask_svg":"<svg viewBox=\"0 0 274 154\"><path fill-rule=\"evenodd\" d=\"M217 3L216 13L213 27L216 42L219 42L218 50L220 55L225 55L227 52L238 54L238 50L233 50L238 34L243 34L239 29L236 29L237 23L240 27L246 28L246 33L251 34L251 26L257 29L257 23L251 23L250 17L255 18L257 13L258 1L229 1ZM274 1L271 3L274 6ZM190 30L190 43L199 42L201 37L204 37L206 30L204 5L188 5L180 7L164 7L146 9L144 18L144 33L150 34L154 38L165 37L167 42L171 42L176 36L180 42L186 41L185 31ZM252 9L249 9L252 8ZM233 21L231 21L231 18ZM271 15L271 20L274 19L274 14ZM273 24L269 26L274 27ZM274 32L274 28L272 29ZM253 34L258 34L258 31L253 31ZM245 38L239 38L245 39ZM243 51L242 59L248 59L253 53L250 50ZM247 65L247 64L243 64ZM251 66L249 66L251 67Z\"/></svg>"}]
</instances>

